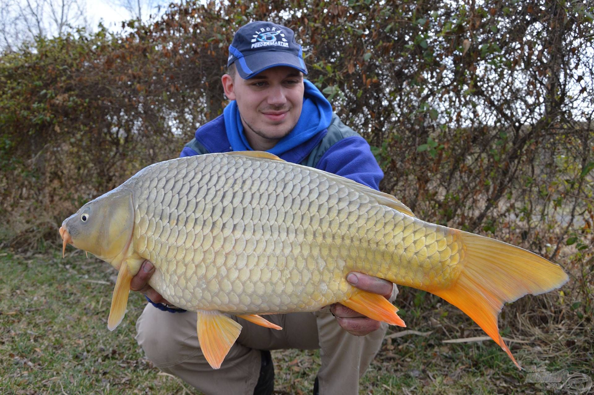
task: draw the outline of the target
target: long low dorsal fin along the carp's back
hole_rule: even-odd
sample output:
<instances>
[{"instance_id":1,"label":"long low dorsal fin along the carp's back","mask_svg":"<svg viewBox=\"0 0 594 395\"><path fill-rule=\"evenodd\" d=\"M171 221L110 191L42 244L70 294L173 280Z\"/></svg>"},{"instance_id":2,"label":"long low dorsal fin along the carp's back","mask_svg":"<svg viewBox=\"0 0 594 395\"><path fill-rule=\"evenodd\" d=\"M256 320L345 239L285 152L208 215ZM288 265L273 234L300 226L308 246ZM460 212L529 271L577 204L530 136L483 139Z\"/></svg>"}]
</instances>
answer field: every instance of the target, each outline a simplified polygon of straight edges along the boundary
<instances>
[{"instance_id":1,"label":"long low dorsal fin along the carp's back","mask_svg":"<svg viewBox=\"0 0 594 395\"><path fill-rule=\"evenodd\" d=\"M286 162L285 160L280 159L278 156L271 154L269 152L264 152L264 151L233 151L233 152L227 152L226 154L227 155L235 155L235 156L245 156L245 157L257 158L257 159L280 160L281 162L285 162L291 166L307 167L312 172L324 173L324 175L326 175L329 178L334 178L334 179L336 179L336 181L339 181L342 184L347 184L347 185L349 185L349 187L356 189L359 192L371 195L373 198L375 198L378 201L378 203L383 204L384 206L394 208L394 210L400 211L400 213L406 214L411 217L415 217L415 214L412 213L410 208L406 207L405 204L402 203L397 198L393 197L390 194L376 191L375 189L369 188L366 185L359 184L359 182L353 181L350 178L339 176L339 175L336 175L333 173L328 173L328 172L325 172L324 170L320 170L320 169L316 169L316 168L309 168L308 166L304 166L304 165L298 165L297 163Z\"/></svg>"}]
</instances>

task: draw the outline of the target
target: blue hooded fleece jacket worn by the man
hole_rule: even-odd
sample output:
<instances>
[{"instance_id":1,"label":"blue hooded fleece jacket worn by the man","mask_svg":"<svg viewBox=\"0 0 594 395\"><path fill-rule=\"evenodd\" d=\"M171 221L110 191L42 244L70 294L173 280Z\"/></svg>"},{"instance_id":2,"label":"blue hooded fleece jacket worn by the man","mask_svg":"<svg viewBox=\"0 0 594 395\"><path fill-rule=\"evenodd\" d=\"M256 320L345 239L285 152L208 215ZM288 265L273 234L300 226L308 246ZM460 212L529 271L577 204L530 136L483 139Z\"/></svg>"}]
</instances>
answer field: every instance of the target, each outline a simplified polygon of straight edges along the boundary
<instances>
[{"instance_id":1,"label":"blue hooded fleece jacket worn by the man","mask_svg":"<svg viewBox=\"0 0 594 395\"><path fill-rule=\"evenodd\" d=\"M297 125L268 152L287 162L310 165L378 190L384 173L367 141L340 122L332 112L330 103L314 84L307 80L304 80L304 84L304 110ZM237 106L233 101L222 115L197 129L194 140L186 144L180 157L242 150L252 148L243 135ZM149 298L147 300L163 311L185 311L155 304Z\"/></svg>"}]
</instances>

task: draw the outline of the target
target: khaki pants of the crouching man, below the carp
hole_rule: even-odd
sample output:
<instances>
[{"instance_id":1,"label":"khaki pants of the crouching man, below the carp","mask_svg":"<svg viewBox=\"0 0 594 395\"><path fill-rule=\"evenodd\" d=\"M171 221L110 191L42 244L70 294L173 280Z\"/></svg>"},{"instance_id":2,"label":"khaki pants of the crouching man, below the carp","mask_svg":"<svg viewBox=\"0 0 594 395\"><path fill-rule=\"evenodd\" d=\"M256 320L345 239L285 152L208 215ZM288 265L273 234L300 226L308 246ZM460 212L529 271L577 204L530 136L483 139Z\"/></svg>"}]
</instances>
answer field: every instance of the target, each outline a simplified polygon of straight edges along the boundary
<instances>
[{"instance_id":1,"label":"khaki pants of the crouching man, below the carp","mask_svg":"<svg viewBox=\"0 0 594 395\"><path fill-rule=\"evenodd\" d=\"M320 394L348 395L358 394L359 378L380 350L387 330L382 323L367 336L353 336L328 309L266 315L283 330L229 317L243 328L220 369L211 368L200 350L195 312L170 313L149 304L138 318L136 340L154 365L208 395L253 394L260 374L260 350L320 349Z\"/></svg>"}]
</instances>

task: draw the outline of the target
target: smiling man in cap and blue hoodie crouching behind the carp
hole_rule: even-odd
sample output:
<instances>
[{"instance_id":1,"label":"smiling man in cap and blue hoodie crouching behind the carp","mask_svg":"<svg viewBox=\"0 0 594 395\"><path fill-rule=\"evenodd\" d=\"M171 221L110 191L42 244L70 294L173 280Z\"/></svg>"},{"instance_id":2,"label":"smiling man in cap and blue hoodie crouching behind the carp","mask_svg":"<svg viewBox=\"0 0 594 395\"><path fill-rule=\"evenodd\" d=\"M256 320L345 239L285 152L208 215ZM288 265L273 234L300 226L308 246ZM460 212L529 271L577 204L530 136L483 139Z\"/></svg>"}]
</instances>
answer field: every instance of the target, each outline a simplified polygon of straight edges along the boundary
<instances>
[{"instance_id":1,"label":"smiling man in cap and blue hoodie crouching behind the carp","mask_svg":"<svg viewBox=\"0 0 594 395\"><path fill-rule=\"evenodd\" d=\"M229 47L228 74L222 77L232 102L223 115L198 128L181 156L268 151L378 189L383 173L368 144L340 122L304 74L307 68L292 30L262 21L241 27ZM215 370L201 353L196 314L171 306L151 289L147 281L153 271L146 261L131 284L151 301L138 319L138 343L160 369L207 394L271 394L274 370L268 350L286 348L320 349L314 393L356 394L359 377L386 333L386 324L342 305L329 311L267 315L282 331L230 316L243 328ZM350 273L347 280L386 298L396 290L386 280L361 273Z\"/></svg>"}]
</instances>

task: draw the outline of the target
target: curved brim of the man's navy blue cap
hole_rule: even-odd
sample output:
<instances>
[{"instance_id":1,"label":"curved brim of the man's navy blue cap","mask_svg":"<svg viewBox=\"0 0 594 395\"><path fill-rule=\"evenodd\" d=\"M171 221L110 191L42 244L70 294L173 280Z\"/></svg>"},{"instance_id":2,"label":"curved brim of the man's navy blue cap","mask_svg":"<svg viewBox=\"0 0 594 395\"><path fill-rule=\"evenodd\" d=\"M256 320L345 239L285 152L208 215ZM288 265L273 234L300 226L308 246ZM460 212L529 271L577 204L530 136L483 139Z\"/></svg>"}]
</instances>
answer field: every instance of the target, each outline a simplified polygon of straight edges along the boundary
<instances>
[{"instance_id":1,"label":"curved brim of the man's navy blue cap","mask_svg":"<svg viewBox=\"0 0 594 395\"><path fill-rule=\"evenodd\" d=\"M303 59L282 50L252 53L235 61L235 68L244 80L249 80L266 69L278 66L292 67L307 74Z\"/></svg>"}]
</instances>

